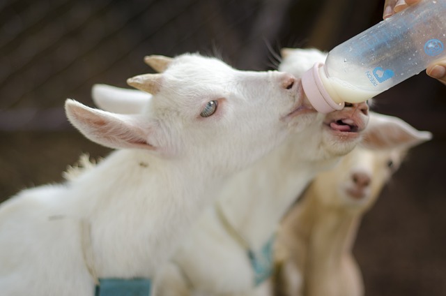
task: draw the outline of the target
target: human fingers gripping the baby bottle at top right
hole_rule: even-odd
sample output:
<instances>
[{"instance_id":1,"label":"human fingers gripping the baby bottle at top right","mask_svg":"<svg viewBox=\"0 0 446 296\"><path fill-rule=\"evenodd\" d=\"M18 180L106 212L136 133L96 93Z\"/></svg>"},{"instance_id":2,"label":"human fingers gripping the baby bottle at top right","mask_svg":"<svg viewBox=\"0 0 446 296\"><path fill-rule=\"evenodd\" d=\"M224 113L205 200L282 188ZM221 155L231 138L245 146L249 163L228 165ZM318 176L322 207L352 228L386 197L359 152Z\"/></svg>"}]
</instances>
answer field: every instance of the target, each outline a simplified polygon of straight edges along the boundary
<instances>
[{"instance_id":1,"label":"human fingers gripping the baby bottle at top right","mask_svg":"<svg viewBox=\"0 0 446 296\"><path fill-rule=\"evenodd\" d=\"M391 17L395 13L404 8L414 5L421 0L385 0L383 19ZM435 64L431 64L426 68L427 75L436 78L438 81L446 85L446 59L437 61Z\"/></svg>"}]
</instances>

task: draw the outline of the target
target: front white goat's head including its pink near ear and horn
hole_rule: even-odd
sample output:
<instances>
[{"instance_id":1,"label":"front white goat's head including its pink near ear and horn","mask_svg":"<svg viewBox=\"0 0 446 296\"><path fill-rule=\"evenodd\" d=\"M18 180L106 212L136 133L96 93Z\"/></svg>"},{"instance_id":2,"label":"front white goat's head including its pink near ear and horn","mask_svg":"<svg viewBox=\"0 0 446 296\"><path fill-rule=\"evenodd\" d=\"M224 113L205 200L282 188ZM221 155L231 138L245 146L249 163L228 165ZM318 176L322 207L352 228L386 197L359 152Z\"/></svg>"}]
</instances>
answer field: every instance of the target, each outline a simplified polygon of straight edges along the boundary
<instances>
[{"instance_id":1,"label":"front white goat's head including its pink near ear and horn","mask_svg":"<svg viewBox=\"0 0 446 296\"><path fill-rule=\"evenodd\" d=\"M70 121L102 145L146 147L161 156L194 159L224 173L266 154L294 126L308 121L305 114L315 113L304 100L300 80L290 74L238 71L198 54L171 59L162 70L129 80L153 94L139 114L89 110L90 116L71 102ZM116 122L110 125L111 118L118 121L113 119ZM93 131L89 131L92 123ZM107 136L98 139L103 133Z\"/></svg>"}]
</instances>

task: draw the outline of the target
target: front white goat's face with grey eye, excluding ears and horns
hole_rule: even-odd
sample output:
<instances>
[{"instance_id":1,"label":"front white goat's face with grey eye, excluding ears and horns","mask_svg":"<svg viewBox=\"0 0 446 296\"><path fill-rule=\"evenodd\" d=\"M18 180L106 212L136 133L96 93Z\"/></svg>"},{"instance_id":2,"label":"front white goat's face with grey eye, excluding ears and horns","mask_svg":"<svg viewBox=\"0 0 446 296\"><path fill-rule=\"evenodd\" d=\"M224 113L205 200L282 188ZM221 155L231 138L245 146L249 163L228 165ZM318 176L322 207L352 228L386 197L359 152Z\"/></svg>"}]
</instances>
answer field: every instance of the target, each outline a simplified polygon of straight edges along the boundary
<instances>
[{"instance_id":1,"label":"front white goat's face with grey eye, excluding ears and horns","mask_svg":"<svg viewBox=\"0 0 446 296\"><path fill-rule=\"evenodd\" d=\"M313 112L292 75L237 71L222 61L185 54L162 73L151 110L171 135L170 147L224 170L250 163ZM225 160L225 161L222 161Z\"/></svg>"}]
</instances>

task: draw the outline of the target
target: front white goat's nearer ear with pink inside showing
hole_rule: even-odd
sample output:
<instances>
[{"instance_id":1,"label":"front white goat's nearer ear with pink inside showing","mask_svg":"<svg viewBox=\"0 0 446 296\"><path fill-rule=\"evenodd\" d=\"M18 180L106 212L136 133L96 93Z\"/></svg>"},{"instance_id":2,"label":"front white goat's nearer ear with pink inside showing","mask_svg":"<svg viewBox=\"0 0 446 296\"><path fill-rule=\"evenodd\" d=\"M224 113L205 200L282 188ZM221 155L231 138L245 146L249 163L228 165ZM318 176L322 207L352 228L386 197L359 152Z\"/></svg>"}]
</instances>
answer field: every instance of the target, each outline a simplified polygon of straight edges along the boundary
<instances>
[{"instance_id":1,"label":"front white goat's nearer ear with pink inside showing","mask_svg":"<svg viewBox=\"0 0 446 296\"><path fill-rule=\"evenodd\" d=\"M68 99L65 103L68 119L86 138L105 147L141 148L153 151L162 150L155 120L146 119L140 114L114 114L86 107ZM149 140L151 142L149 142Z\"/></svg>"}]
</instances>

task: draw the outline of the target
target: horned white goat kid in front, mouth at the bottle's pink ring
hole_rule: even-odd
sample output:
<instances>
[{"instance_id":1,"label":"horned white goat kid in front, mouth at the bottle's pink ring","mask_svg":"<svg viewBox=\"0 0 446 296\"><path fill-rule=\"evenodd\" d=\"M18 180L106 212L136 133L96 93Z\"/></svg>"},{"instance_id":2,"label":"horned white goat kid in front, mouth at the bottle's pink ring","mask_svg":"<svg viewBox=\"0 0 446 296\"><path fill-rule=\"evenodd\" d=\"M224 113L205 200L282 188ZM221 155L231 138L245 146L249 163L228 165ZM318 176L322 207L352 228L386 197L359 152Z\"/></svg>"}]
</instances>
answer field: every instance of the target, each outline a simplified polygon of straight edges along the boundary
<instances>
[{"instance_id":1,"label":"horned white goat kid in front, mouth at the bottle's pink ring","mask_svg":"<svg viewBox=\"0 0 446 296\"><path fill-rule=\"evenodd\" d=\"M66 101L79 131L119 150L66 184L1 205L2 295L93 295L98 279L153 278L222 177L307 120L292 75L236 71L198 54L164 68L129 80L153 94L140 114Z\"/></svg>"}]
</instances>

